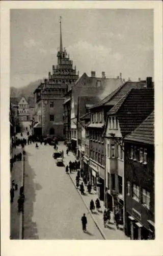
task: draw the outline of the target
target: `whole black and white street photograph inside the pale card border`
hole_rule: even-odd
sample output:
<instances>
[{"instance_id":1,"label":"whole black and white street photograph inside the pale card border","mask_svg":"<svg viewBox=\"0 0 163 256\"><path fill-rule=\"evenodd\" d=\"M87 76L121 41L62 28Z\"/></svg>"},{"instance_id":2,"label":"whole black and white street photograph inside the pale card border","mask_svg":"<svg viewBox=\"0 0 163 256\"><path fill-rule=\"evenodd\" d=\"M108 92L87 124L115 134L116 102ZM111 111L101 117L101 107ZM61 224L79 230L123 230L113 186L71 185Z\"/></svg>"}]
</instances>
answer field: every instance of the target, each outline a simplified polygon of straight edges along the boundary
<instances>
[{"instance_id":1,"label":"whole black and white street photograph inside the pale card border","mask_svg":"<svg viewBox=\"0 0 163 256\"><path fill-rule=\"evenodd\" d=\"M154 9L84 7L9 10L10 241L156 239Z\"/></svg>"}]
</instances>

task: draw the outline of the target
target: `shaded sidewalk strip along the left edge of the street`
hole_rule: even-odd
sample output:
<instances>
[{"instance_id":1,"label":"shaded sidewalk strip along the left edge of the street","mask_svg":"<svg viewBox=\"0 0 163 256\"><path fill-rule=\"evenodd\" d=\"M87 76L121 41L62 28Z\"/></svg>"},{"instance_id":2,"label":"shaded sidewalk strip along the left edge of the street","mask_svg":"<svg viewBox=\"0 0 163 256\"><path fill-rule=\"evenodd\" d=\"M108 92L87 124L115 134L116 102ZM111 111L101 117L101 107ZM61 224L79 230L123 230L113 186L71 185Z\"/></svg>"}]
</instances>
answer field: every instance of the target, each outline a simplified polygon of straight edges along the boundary
<instances>
[{"instance_id":1,"label":"shaded sidewalk strip along the left edge of the street","mask_svg":"<svg viewBox=\"0 0 163 256\"><path fill-rule=\"evenodd\" d=\"M22 152L21 146L16 146L13 148L13 156L14 154L18 154ZM20 213L18 212L17 200L19 197L19 189L21 187L21 176L22 176L22 164L23 161L16 161L13 163L12 172L11 172L11 184L12 180L14 180L15 184L18 184L18 190L14 191L14 201L10 203L10 238L11 239L19 239L21 226L20 226Z\"/></svg>"}]
</instances>

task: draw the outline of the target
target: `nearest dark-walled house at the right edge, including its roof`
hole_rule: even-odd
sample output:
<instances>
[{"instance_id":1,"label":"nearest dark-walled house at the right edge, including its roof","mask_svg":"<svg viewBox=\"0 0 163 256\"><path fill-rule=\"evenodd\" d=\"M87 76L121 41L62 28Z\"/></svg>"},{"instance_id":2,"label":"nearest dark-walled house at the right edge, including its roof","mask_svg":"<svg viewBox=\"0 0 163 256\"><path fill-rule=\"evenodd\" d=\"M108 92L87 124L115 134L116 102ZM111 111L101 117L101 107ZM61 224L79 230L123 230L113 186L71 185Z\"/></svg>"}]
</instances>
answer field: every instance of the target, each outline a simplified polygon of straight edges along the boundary
<instances>
[{"instance_id":1,"label":"nearest dark-walled house at the right edge, including its roof","mask_svg":"<svg viewBox=\"0 0 163 256\"><path fill-rule=\"evenodd\" d=\"M124 152L125 232L154 239L154 111L124 138Z\"/></svg>"}]
</instances>

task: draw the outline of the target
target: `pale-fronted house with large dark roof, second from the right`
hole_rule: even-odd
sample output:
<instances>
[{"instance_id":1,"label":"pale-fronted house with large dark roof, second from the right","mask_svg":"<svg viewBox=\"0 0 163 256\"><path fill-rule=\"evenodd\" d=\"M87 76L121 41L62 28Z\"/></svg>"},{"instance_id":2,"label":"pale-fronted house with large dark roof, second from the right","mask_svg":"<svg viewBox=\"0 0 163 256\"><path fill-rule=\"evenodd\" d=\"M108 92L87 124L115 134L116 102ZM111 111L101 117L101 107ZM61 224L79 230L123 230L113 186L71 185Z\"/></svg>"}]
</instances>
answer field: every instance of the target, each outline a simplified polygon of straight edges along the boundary
<instances>
[{"instance_id":1,"label":"pale-fronted house with large dark roof, second from the right","mask_svg":"<svg viewBox=\"0 0 163 256\"><path fill-rule=\"evenodd\" d=\"M124 137L154 109L152 88L131 89L107 113L105 125L106 207L118 209L124 224Z\"/></svg>"}]
</instances>

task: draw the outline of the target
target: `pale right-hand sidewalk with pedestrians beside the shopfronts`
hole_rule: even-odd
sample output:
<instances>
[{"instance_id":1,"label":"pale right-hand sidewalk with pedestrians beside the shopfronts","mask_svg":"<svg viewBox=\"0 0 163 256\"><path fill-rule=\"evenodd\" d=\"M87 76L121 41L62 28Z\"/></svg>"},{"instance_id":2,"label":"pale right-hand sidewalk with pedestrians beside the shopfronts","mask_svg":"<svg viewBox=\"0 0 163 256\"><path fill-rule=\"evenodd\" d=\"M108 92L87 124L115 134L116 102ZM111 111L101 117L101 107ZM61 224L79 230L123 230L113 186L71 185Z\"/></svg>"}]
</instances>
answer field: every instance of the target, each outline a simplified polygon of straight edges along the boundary
<instances>
[{"instance_id":1,"label":"pale right-hand sidewalk with pedestrians beside the shopfronts","mask_svg":"<svg viewBox=\"0 0 163 256\"><path fill-rule=\"evenodd\" d=\"M69 152L69 156L71 157L71 161L75 160L75 157L72 152ZM68 164L68 159L65 158L65 163ZM76 175L77 172L72 172L69 174L74 186L76 187ZM80 183L83 182L83 179L80 178ZM83 183L84 184L84 183ZM94 203L96 199L98 198L98 195L96 191L92 189L91 194L87 193L87 187L85 187L85 195L81 195L79 188L76 190L78 191L80 197L84 201L85 205L87 206L88 210L90 211L90 201L93 199ZM102 236L106 240L130 240L130 238L125 236L125 233L123 231L123 226L119 225L119 229L116 228L116 225L114 223L114 216L113 213L111 212L111 221L109 224L106 225L106 228L104 228L103 225L103 211L104 211L104 206L103 206L103 201L100 201L100 212L98 212L96 209L94 210L93 214L90 211L90 215L92 216L97 228L101 232Z\"/></svg>"}]
</instances>

